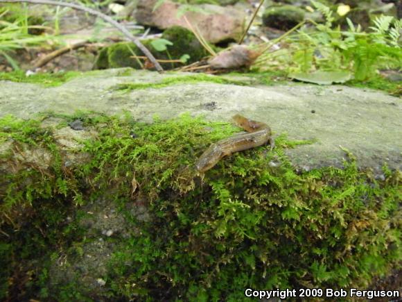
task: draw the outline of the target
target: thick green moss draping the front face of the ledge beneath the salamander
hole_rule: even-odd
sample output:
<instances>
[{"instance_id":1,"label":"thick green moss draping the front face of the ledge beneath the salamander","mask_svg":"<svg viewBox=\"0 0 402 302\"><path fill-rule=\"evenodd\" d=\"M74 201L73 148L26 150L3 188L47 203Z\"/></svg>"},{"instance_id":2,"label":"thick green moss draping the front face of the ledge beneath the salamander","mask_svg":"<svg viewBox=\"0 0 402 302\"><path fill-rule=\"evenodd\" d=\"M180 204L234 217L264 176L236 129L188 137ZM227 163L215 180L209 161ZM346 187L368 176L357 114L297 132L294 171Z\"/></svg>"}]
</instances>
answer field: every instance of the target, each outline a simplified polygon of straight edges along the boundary
<instances>
[{"instance_id":1,"label":"thick green moss draping the front face of the ledge beneath the salamander","mask_svg":"<svg viewBox=\"0 0 402 302\"><path fill-rule=\"evenodd\" d=\"M15 156L21 146L41 147L54 158L49 169L30 165L2 174L0 226L12 233L0 244L7 268L0 272L2 299L100 298L80 288L84 278L56 287L46 280L54 251L73 259L69 253L88 235L65 217L105 192L113 192L130 228L141 232L119 241L103 299L240 301L246 287L363 289L400 267L400 171L384 167L385 180L377 181L350 158L344 169L297 174L284 155L295 143L279 136L274 151L235 153L200 179L191 169L195 158L238 128L189 115L153 124L80 117L98 135L82 148L91 158L74 167L64 165L52 129L0 119L0 137L13 142L0 167L22 165ZM148 221L126 208L138 196L146 196Z\"/></svg>"}]
</instances>

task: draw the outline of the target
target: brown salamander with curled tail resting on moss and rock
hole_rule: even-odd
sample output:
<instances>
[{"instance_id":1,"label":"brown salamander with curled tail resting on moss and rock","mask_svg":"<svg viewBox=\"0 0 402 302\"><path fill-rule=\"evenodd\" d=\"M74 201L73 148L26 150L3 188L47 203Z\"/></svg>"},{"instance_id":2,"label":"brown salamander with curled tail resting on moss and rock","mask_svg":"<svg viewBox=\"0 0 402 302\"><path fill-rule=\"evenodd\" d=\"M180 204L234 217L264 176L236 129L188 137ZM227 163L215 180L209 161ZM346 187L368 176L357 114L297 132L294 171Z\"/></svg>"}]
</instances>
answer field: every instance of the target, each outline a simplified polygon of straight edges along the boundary
<instances>
[{"instance_id":1,"label":"brown salamander with curled tail resting on moss and rock","mask_svg":"<svg viewBox=\"0 0 402 302\"><path fill-rule=\"evenodd\" d=\"M245 129L248 133L240 133L211 144L195 163L199 172L203 173L211 169L219 160L225 156L230 156L231 153L262 146L267 142L270 142L271 149L274 147L271 128L267 124L252 121L241 115L234 115L232 118L237 126Z\"/></svg>"}]
</instances>

